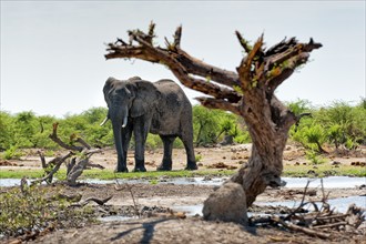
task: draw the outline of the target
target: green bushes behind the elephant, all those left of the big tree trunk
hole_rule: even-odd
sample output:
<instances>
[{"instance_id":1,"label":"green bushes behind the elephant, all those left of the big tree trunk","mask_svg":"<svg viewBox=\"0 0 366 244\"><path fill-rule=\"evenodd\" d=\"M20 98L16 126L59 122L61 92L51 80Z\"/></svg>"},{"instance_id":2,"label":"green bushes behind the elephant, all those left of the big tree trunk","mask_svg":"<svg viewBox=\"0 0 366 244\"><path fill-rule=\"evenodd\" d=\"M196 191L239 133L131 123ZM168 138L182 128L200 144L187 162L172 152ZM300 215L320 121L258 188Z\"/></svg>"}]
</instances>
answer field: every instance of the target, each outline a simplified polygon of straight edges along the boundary
<instances>
[{"instance_id":1,"label":"green bushes behind the elephant, all those left of the big tree trunk","mask_svg":"<svg viewBox=\"0 0 366 244\"><path fill-rule=\"evenodd\" d=\"M0 112L0 151L7 151L7 157L13 157L16 149L41 148L58 150L59 145L49 139L52 124L58 122L62 130L58 136L65 142L73 143L73 136L83 138L94 148L111 146L114 144L113 131L110 122L100 126L108 113L106 108L92 108L81 114L68 114L64 119L53 116L37 116L33 112L10 114ZM196 144L215 144L224 135L232 135L236 142L247 142L248 135L241 118L221 111L209 110L201 105L193 108L194 139ZM133 148L133 140L131 140ZM162 148L159 135L149 134L146 149ZM174 148L183 149L181 140L175 140Z\"/></svg>"}]
</instances>

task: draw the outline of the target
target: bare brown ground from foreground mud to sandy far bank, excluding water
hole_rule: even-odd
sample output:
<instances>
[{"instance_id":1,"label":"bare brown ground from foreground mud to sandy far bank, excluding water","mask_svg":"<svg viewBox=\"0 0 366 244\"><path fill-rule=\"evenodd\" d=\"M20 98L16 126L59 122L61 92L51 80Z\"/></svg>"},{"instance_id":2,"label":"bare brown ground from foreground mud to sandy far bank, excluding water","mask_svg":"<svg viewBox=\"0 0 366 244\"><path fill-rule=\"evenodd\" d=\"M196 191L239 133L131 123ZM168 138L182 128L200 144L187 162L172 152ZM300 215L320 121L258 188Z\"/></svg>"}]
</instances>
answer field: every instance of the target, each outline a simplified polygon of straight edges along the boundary
<instances>
[{"instance_id":1,"label":"bare brown ground from foreground mud to sandy far bank, excluding water","mask_svg":"<svg viewBox=\"0 0 366 244\"><path fill-rule=\"evenodd\" d=\"M201 155L200 170L214 169L224 165L226 169L240 167L250 156L250 145L222 146L213 149L196 149ZM162 157L161 150L146 152L146 169L154 171ZM114 150L105 150L92 157L94 163L100 163L108 169L115 166ZM129 169L133 169L133 154L129 155ZM174 150L173 170L185 166L183 150ZM357 155L332 156L327 163L339 162L350 164L365 162L365 151ZM288 145L284 154L284 164L308 163L304 157L304 150ZM6 165L4 165L6 164ZM23 156L21 161L2 162L1 169L31 169L39 167L40 161L35 153ZM304 185L305 186L305 185ZM313 237L299 232L279 227L244 227L234 223L205 222L201 216L190 216L174 210L182 205L203 204L203 201L214 191L215 186L207 185L179 185L179 184L80 184L70 187L61 184L47 186L49 194L62 193L65 195L81 194L82 200L89 197L112 199L105 206L92 204L95 216L135 215L134 217L116 222L84 223L79 227L47 231L38 235L31 243L366 243L365 225L358 231L334 232L328 240ZM326 187L326 186L325 186ZM4 187L0 191L7 191ZM365 189L325 189L329 199L364 195ZM321 200L321 189L308 189L306 201ZM297 200L304 195L304 189L267 189L257 197L257 202ZM267 207L253 211L278 213L288 210ZM1 242L1 241L0 241ZM19 238L2 240L2 242L19 243Z\"/></svg>"}]
</instances>

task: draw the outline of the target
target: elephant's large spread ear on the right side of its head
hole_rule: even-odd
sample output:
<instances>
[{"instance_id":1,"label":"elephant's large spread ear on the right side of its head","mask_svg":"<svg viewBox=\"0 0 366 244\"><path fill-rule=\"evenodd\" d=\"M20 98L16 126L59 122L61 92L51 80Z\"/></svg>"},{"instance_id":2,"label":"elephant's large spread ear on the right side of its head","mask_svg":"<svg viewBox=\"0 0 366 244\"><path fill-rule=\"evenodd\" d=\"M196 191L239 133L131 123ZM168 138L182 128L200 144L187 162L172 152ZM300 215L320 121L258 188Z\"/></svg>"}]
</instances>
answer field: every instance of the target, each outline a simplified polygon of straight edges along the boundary
<instances>
[{"instance_id":1,"label":"elephant's large spread ear on the right side of its head","mask_svg":"<svg viewBox=\"0 0 366 244\"><path fill-rule=\"evenodd\" d=\"M136 118L155 109L159 103L160 92L156 87L149 81L134 80L133 84L135 84L136 93L130 113L132 118Z\"/></svg>"}]
</instances>

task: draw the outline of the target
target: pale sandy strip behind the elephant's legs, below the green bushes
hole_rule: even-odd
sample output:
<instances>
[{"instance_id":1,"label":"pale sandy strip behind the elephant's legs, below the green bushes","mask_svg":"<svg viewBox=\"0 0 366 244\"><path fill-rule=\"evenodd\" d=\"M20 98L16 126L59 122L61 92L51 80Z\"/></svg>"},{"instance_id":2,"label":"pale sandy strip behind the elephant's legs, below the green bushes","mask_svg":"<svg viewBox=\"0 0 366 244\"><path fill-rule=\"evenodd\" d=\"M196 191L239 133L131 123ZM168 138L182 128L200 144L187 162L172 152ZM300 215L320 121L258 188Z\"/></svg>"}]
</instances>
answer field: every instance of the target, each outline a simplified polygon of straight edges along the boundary
<instances>
[{"instance_id":1,"label":"pale sandy strip behind the elephant's legs, below the green bushes","mask_svg":"<svg viewBox=\"0 0 366 244\"><path fill-rule=\"evenodd\" d=\"M0 160L1 169L34 169L41 167L41 161L37 154L38 150L28 150L26 155L20 160ZM57 154L65 154L65 152L58 152ZM251 144L238 144L216 148L197 148L195 149L195 155L199 157L199 170L207 169L238 169L251 155ZM145 167L148 171L155 171L160 165L163 157L162 149L146 150L145 151ZM53 157L45 157L47 161ZM115 169L116 153L113 148L103 149L101 153L96 153L92 156L91 161L103 165L106 169ZM357 152L349 155L337 155L332 153L327 155L326 160L328 164L334 162L340 164L358 164L366 166L366 146L360 148ZM284 151L284 165L303 165L309 164L309 161L305 159L305 150L296 145L287 145ZM134 152L129 151L128 154L128 167L133 170L134 165ZM184 149L173 150L173 170L183 170L186 165L186 155Z\"/></svg>"}]
</instances>

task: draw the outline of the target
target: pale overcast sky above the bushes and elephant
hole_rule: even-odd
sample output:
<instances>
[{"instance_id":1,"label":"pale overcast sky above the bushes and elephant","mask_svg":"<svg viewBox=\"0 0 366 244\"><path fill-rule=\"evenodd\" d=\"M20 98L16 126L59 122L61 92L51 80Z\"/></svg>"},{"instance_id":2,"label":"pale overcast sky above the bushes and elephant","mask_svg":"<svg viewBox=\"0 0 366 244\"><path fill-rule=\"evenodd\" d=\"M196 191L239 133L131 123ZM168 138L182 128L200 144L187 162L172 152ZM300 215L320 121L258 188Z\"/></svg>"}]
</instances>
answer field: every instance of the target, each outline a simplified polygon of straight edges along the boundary
<instances>
[{"instance_id":1,"label":"pale overcast sky above the bushes and elephant","mask_svg":"<svg viewBox=\"0 0 366 244\"><path fill-rule=\"evenodd\" d=\"M283 101L327 105L365 98L365 1L3 1L1 0L1 110L63 116L105 106L109 77L176 80L163 65L105 61L104 43L156 23L164 44L180 24L181 47L207 63L235 70L242 48L264 32L266 47L285 37L323 43L278 89ZM200 95L189 89L193 99ZM191 100L193 102L193 100Z\"/></svg>"}]
</instances>

